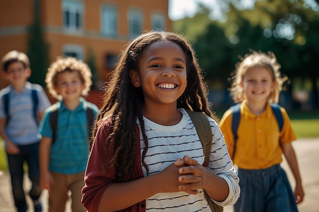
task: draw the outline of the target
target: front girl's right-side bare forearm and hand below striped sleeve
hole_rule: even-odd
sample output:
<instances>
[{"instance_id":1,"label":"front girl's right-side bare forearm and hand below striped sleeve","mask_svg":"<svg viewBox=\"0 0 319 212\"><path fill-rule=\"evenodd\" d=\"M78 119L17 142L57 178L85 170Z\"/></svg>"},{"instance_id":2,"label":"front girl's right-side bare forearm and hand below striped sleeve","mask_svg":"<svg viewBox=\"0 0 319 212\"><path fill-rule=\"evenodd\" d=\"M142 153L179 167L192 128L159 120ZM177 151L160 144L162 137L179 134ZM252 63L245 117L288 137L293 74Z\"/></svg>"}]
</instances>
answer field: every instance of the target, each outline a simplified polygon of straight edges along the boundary
<instances>
[{"instance_id":1,"label":"front girl's right-side bare forearm and hand below striped sleeve","mask_svg":"<svg viewBox=\"0 0 319 212\"><path fill-rule=\"evenodd\" d=\"M180 185L179 190L190 194L197 194L198 189L204 189L211 199L224 201L228 194L229 188L226 180L212 173L207 168L197 163L197 160L184 156L183 159L177 159L175 165L180 167L178 180L185 185Z\"/></svg>"}]
</instances>

